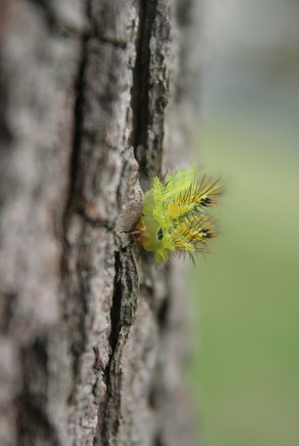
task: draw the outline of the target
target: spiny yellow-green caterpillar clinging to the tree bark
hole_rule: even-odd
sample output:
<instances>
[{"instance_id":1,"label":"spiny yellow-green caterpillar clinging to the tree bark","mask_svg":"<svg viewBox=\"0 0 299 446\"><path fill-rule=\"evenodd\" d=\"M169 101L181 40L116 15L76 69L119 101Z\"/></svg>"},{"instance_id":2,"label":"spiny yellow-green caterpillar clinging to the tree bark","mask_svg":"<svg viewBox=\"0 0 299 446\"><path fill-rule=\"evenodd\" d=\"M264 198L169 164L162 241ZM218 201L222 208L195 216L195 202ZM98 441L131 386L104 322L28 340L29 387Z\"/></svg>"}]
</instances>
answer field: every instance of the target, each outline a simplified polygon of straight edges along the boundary
<instances>
[{"instance_id":1,"label":"spiny yellow-green caterpillar clinging to the tree bark","mask_svg":"<svg viewBox=\"0 0 299 446\"><path fill-rule=\"evenodd\" d=\"M145 193L143 215L132 232L134 242L154 251L158 264L172 253L179 257L189 253L194 264L193 254L208 252L208 240L216 235L206 208L215 205L220 189L218 181L211 183L205 176L196 180L193 167L154 176Z\"/></svg>"}]
</instances>

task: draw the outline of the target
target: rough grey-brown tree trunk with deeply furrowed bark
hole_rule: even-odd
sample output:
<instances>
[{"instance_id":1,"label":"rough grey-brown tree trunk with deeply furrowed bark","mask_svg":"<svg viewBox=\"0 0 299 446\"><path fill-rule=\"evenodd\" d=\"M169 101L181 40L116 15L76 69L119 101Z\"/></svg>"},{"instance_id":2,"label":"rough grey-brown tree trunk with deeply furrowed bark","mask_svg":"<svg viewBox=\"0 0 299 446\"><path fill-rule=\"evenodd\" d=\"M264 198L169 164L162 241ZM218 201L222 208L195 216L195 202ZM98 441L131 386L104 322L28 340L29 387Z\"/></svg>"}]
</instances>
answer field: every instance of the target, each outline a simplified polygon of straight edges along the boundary
<instances>
[{"instance_id":1,"label":"rough grey-brown tree trunk with deeply furrowed bark","mask_svg":"<svg viewBox=\"0 0 299 446\"><path fill-rule=\"evenodd\" d=\"M170 72L185 150L192 2L0 6L0 444L191 445L180 285L130 230Z\"/></svg>"}]
</instances>

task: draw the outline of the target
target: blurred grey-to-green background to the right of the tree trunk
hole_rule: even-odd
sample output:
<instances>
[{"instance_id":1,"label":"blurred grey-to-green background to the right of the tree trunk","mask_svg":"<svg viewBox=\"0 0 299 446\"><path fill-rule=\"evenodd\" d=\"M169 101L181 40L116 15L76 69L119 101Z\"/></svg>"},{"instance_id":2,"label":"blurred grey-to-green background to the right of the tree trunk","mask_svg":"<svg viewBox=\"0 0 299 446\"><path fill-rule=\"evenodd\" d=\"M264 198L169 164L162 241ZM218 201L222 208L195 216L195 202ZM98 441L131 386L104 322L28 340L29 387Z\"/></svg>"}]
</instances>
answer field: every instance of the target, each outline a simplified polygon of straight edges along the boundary
<instances>
[{"instance_id":1,"label":"blurred grey-to-green background to the right of the tree trunk","mask_svg":"<svg viewBox=\"0 0 299 446\"><path fill-rule=\"evenodd\" d=\"M194 157L225 192L217 253L189 273L198 444L298 446L299 2L215 5Z\"/></svg>"}]
</instances>

